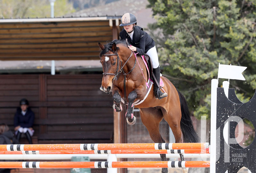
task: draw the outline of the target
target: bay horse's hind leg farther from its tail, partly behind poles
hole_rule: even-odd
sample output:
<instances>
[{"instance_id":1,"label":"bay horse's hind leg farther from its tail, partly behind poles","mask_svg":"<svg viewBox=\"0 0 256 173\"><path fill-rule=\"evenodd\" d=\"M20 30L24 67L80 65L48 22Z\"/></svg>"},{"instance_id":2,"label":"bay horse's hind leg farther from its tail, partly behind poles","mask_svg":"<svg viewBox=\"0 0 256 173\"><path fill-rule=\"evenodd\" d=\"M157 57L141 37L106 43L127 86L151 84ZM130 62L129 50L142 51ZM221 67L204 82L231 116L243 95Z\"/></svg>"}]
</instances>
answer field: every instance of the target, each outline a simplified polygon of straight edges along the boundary
<instances>
[{"instance_id":1,"label":"bay horse's hind leg farther from its tail, partly behind poles","mask_svg":"<svg viewBox=\"0 0 256 173\"><path fill-rule=\"evenodd\" d=\"M156 108L141 108L140 117L149 132L150 138L155 143L165 143L159 132L159 123L163 119L161 110ZM161 161L167 161L166 154L160 154L160 156ZM162 168L162 173L168 173L168 168Z\"/></svg>"}]
</instances>

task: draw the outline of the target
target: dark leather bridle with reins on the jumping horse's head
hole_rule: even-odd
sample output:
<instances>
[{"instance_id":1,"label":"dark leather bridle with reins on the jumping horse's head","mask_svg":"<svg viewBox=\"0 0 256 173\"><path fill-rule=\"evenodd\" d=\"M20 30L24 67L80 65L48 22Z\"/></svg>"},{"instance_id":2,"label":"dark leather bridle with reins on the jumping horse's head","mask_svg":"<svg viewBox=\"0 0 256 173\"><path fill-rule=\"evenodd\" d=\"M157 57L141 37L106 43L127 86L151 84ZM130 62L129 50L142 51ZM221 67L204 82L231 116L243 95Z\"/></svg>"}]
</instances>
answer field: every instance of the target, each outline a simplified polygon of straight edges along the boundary
<instances>
[{"instance_id":1,"label":"dark leather bridle with reins on the jumping horse's head","mask_svg":"<svg viewBox=\"0 0 256 173\"><path fill-rule=\"evenodd\" d=\"M112 51L112 50L111 50L111 51ZM132 72L132 70L134 69L135 64L136 64L136 62L137 62L137 59L135 58L135 62L134 62L134 65L133 65L132 70L129 71L128 73L124 73L124 70L122 70L122 69L124 68L124 65L128 62L128 60L132 57L132 52L131 52L131 55L128 57L128 59L126 60L126 62L124 63L123 66L122 66L122 61L121 61L121 59L119 58L119 55L118 55L117 51L116 51L116 52L112 51L112 52L113 52L113 54L103 54L103 55L104 55L104 56L115 56L115 55L116 55L116 57L117 57L117 59L116 59L116 61L117 61L116 72L115 72L115 73L102 73L102 74L103 74L103 75L113 75L113 76L114 76L113 80L114 80L114 79L117 80L117 79L119 78L119 74L120 74L121 72L123 72L124 76ZM120 64L121 64L121 69L118 71L119 62L120 62ZM125 78L125 77L124 77L124 78Z\"/></svg>"}]
</instances>

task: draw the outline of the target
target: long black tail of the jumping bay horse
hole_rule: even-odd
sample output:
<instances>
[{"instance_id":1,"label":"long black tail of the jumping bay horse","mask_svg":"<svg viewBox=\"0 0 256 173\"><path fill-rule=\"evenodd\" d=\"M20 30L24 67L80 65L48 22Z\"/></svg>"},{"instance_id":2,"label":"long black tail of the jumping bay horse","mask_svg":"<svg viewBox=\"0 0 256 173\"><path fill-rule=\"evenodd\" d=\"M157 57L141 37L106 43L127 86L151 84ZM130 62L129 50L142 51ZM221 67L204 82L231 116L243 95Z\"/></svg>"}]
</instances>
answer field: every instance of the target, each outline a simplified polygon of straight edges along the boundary
<instances>
[{"instance_id":1,"label":"long black tail of the jumping bay horse","mask_svg":"<svg viewBox=\"0 0 256 173\"><path fill-rule=\"evenodd\" d=\"M177 90L178 91L178 90ZM178 91L180 97L181 121L180 128L183 135L183 142L199 142L199 137L194 129L190 118L188 103L185 97Z\"/></svg>"}]
</instances>

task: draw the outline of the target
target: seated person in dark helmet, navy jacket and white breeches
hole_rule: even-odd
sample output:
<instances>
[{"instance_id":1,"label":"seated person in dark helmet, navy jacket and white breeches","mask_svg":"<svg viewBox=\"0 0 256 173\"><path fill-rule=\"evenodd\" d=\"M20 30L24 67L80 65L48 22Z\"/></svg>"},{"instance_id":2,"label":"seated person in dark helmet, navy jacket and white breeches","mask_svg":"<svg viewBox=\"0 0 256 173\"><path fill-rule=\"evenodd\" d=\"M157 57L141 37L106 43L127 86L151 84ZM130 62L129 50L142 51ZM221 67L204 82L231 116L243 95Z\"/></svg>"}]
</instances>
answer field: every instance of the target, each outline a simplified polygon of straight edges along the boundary
<instances>
[{"instance_id":1,"label":"seated person in dark helmet, navy jacket and white breeches","mask_svg":"<svg viewBox=\"0 0 256 173\"><path fill-rule=\"evenodd\" d=\"M34 130L35 114L34 112L28 107L28 100L21 99L20 100L20 107L17 108L17 112L14 116L14 130L16 134L16 138L18 141L20 140L20 136L22 133L25 134L26 138L28 139L28 143L32 144L32 138Z\"/></svg>"}]
</instances>

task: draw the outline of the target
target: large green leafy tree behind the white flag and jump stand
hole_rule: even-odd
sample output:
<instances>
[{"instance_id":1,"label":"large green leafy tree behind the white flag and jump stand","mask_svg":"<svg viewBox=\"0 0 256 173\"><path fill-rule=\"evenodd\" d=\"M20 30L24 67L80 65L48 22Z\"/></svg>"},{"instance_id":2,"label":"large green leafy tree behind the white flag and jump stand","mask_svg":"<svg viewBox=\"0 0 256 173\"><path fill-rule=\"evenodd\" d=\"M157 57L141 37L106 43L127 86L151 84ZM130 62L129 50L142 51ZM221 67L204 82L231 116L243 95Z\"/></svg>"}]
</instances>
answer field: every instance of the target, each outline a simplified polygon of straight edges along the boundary
<instances>
[{"instance_id":1,"label":"large green leafy tree behind the white flag and jump stand","mask_svg":"<svg viewBox=\"0 0 256 173\"><path fill-rule=\"evenodd\" d=\"M219 63L248 67L246 81L230 80L230 87L241 91L244 101L252 97L256 0L148 1L156 19L149 28L160 31L153 38L163 74L186 96L197 118L210 115L211 79L217 79Z\"/></svg>"}]
</instances>

